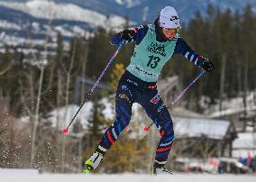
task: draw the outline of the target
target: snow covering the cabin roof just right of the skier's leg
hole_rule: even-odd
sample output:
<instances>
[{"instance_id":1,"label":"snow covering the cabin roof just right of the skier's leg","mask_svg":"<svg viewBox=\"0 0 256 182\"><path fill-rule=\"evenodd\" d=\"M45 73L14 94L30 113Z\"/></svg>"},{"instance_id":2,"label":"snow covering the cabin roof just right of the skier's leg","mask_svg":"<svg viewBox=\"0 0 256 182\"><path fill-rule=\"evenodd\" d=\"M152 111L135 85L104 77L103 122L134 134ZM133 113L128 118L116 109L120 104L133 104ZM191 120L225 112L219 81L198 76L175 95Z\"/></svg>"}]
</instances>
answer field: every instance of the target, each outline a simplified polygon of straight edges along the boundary
<instances>
[{"instance_id":1,"label":"snow covering the cabin roof just right of the skier's leg","mask_svg":"<svg viewBox=\"0 0 256 182\"><path fill-rule=\"evenodd\" d=\"M230 122L225 120L210 120L202 118L175 118L174 131L177 137L208 136L211 139L223 139Z\"/></svg>"}]
</instances>

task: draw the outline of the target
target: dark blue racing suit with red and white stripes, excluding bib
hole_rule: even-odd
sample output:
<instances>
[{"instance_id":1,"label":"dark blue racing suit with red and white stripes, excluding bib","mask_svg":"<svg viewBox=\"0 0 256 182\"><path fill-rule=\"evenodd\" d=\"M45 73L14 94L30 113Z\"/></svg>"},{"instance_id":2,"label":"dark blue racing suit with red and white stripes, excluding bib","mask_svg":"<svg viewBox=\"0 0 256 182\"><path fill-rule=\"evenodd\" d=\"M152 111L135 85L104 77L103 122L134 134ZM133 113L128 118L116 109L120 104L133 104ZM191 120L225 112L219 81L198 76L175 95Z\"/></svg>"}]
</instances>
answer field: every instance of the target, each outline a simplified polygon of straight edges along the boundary
<instances>
[{"instance_id":1,"label":"dark blue racing suit with red and white stripes, excluding bib","mask_svg":"<svg viewBox=\"0 0 256 182\"><path fill-rule=\"evenodd\" d=\"M166 41L159 33L160 28L157 25L155 27L157 41ZM142 25L136 29L136 33L131 41L135 41L136 45L139 45L149 31L149 26ZM121 34L116 33L111 43L119 44L122 41ZM196 64L198 68L201 68L203 62L202 57L194 50L191 50L187 43L181 38L176 38L176 41L177 43L173 55L181 54L189 61ZM161 137L156 150L155 160L160 164L164 164L168 159L174 139L173 123L168 108L160 98L156 82L143 81L139 77L135 77L128 70L123 73L117 86L115 96L115 121L105 131L100 141L101 149L104 148L104 150L108 150L114 144L114 141L117 140L123 129L130 123L133 103L142 105L145 112L159 129Z\"/></svg>"}]
</instances>

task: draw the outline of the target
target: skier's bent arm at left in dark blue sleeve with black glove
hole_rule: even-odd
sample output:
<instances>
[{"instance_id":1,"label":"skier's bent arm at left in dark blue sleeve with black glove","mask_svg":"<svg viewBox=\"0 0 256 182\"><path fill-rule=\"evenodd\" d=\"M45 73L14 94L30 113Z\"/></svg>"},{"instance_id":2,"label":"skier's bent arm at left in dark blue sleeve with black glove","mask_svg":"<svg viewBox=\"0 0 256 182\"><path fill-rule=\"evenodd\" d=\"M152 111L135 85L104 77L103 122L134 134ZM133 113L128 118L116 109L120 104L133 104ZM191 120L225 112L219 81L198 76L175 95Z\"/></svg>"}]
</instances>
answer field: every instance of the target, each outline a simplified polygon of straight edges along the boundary
<instances>
[{"instance_id":1,"label":"skier's bent arm at left in dark blue sleeve with black glove","mask_svg":"<svg viewBox=\"0 0 256 182\"><path fill-rule=\"evenodd\" d=\"M136 44L140 44L148 29L147 25L141 25L134 29L125 29L122 32L115 33L110 42L112 44L120 44L122 41L125 43L135 41Z\"/></svg>"}]
</instances>

